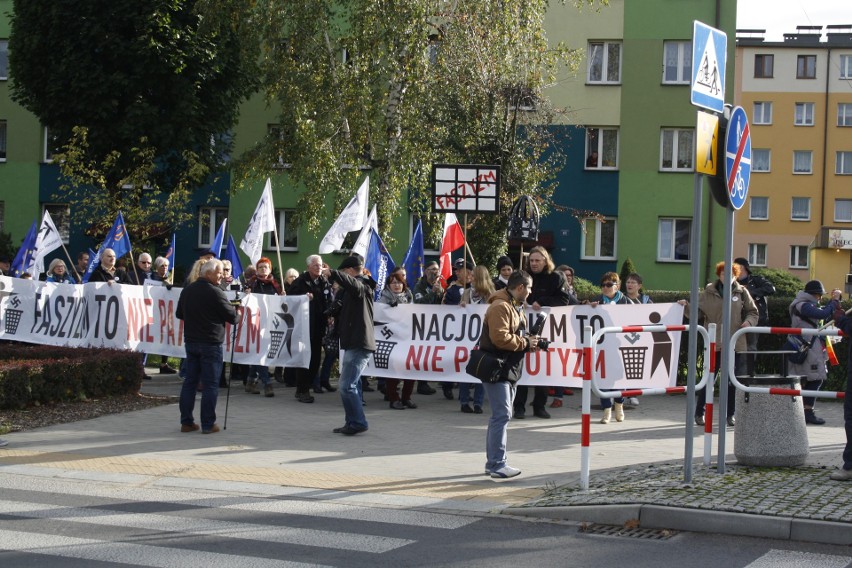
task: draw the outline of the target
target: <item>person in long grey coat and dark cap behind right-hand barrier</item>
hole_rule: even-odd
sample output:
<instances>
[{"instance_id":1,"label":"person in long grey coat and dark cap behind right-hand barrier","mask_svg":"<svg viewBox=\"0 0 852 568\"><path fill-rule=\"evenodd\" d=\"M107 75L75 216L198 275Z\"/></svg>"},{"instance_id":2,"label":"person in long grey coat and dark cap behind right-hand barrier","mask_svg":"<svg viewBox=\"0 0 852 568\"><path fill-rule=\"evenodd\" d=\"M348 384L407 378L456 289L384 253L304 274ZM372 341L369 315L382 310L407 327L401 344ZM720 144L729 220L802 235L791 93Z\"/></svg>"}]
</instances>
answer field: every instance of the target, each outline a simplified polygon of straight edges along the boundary
<instances>
[{"instance_id":1,"label":"person in long grey coat and dark cap behind right-hand barrier","mask_svg":"<svg viewBox=\"0 0 852 568\"><path fill-rule=\"evenodd\" d=\"M805 329L819 329L822 320L831 318L835 310L840 309L840 290L831 293L831 300L820 307L820 300L825 295L825 288L819 280L811 280L805 284L805 289L800 290L788 311L790 313L790 327ZM826 363L828 355L825 352L825 338L813 336L804 338L811 344L808 355L802 363L790 362L789 372L791 375L803 377L802 390L819 390L828 375ZM807 424L825 424L825 419L820 418L814 412L815 397L802 397L805 405L805 422Z\"/></svg>"}]
</instances>

